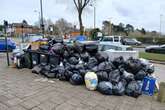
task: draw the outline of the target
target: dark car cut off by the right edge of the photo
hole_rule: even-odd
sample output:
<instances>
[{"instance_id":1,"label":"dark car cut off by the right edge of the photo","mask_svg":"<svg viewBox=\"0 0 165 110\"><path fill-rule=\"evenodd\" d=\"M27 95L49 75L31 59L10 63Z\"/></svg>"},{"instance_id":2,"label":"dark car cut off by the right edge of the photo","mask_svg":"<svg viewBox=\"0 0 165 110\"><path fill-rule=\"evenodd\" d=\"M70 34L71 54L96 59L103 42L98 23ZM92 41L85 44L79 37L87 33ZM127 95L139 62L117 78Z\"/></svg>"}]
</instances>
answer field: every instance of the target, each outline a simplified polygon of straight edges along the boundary
<instances>
[{"instance_id":1,"label":"dark car cut off by the right edge of the photo","mask_svg":"<svg viewBox=\"0 0 165 110\"><path fill-rule=\"evenodd\" d=\"M150 53L161 53L165 54L165 45L160 45L160 46L148 46L145 48L146 52Z\"/></svg>"}]
</instances>

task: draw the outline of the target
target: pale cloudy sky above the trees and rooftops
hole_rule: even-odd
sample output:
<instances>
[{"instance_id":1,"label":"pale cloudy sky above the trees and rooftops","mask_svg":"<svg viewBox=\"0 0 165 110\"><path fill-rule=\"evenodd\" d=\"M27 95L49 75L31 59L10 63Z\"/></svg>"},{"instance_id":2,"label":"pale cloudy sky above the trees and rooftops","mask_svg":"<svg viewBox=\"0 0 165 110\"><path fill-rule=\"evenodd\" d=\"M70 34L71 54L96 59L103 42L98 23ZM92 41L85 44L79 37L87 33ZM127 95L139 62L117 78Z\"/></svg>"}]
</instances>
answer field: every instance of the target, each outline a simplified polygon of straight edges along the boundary
<instances>
[{"instance_id":1,"label":"pale cloudy sky above the trees and rooftops","mask_svg":"<svg viewBox=\"0 0 165 110\"><path fill-rule=\"evenodd\" d=\"M135 27L144 27L147 30L157 30L162 17L162 31L165 32L165 1L164 0L96 0L97 27L102 26L103 20L111 20L118 24L129 23ZM77 25L77 13L72 0L43 0L43 12L46 19L55 22L65 18ZM38 20L40 10L39 0L0 0L0 23L6 19L9 22L20 22L26 19L29 24ZM93 27L93 8L83 13L83 22L86 27Z\"/></svg>"}]
</instances>

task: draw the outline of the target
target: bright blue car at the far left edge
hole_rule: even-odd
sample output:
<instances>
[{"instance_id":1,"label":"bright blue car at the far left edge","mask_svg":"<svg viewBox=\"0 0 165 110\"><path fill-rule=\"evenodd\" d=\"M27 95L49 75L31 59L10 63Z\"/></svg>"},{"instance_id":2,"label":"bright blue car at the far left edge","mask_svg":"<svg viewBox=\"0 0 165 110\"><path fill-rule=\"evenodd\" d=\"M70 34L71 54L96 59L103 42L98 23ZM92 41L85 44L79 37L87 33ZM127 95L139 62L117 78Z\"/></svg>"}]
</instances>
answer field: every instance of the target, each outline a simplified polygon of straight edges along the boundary
<instances>
[{"instance_id":1,"label":"bright blue car at the far left edge","mask_svg":"<svg viewBox=\"0 0 165 110\"><path fill-rule=\"evenodd\" d=\"M16 48L16 44L14 41L12 41L11 39L7 39L7 44L8 44L8 50L12 51L13 49ZM5 39L0 39L0 52L5 52L6 49L6 42Z\"/></svg>"}]
</instances>

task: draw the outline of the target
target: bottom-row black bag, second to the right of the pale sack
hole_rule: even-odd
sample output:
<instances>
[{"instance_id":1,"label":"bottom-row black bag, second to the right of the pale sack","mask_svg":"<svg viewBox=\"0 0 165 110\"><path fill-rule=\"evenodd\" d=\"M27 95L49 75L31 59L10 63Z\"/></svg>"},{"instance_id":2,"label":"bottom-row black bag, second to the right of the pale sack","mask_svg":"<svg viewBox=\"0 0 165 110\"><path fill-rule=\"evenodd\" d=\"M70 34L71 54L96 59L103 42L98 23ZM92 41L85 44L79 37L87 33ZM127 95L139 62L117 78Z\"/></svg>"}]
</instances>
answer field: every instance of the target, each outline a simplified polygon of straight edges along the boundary
<instances>
[{"instance_id":1,"label":"bottom-row black bag, second to the right of the pale sack","mask_svg":"<svg viewBox=\"0 0 165 110\"><path fill-rule=\"evenodd\" d=\"M113 94L122 96L125 94L125 84L119 82L113 85Z\"/></svg>"}]
</instances>

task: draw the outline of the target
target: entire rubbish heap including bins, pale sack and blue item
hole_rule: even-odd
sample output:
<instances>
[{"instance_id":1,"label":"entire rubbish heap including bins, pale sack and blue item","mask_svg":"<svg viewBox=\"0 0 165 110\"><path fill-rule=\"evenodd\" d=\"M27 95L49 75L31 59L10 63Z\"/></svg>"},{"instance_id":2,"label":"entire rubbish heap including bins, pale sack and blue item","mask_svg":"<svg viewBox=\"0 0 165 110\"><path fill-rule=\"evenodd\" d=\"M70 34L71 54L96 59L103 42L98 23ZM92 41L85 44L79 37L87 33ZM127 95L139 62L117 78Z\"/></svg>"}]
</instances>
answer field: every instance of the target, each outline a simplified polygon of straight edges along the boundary
<instances>
[{"instance_id":1,"label":"entire rubbish heap including bins, pale sack and blue item","mask_svg":"<svg viewBox=\"0 0 165 110\"><path fill-rule=\"evenodd\" d=\"M98 52L98 45L94 43L72 45L54 38L38 50L25 50L17 62L19 68L33 68L33 73L73 85L85 83L88 90L97 88L105 95L137 98L142 90L153 95L155 86L153 64L132 57L124 60L122 56L110 60L107 54Z\"/></svg>"}]
</instances>

